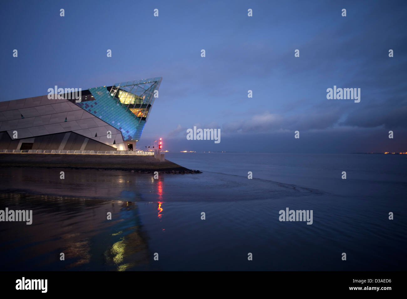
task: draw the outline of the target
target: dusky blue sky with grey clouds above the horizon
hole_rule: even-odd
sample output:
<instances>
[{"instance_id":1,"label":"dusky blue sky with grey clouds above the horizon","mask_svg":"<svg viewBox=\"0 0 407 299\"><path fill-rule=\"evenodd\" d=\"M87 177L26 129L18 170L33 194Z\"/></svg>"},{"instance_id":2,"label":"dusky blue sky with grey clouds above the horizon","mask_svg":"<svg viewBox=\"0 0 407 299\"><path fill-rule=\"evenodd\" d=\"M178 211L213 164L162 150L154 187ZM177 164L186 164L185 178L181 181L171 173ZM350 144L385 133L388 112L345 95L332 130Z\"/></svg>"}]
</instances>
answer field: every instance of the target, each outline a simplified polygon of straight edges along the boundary
<instances>
[{"instance_id":1,"label":"dusky blue sky with grey clouds above the horizon","mask_svg":"<svg viewBox=\"0 0 407 299\"><path fill-rule=\"evenodd\" d=\"M406 1L8 1L0 100L162 76L138 148L162 137L170 151L406 152L406 11ZM334 85L360 88L360 103L328 100ZM221 142L186 140L193 126L221 129Z\"/></svg>"}]
</instances>

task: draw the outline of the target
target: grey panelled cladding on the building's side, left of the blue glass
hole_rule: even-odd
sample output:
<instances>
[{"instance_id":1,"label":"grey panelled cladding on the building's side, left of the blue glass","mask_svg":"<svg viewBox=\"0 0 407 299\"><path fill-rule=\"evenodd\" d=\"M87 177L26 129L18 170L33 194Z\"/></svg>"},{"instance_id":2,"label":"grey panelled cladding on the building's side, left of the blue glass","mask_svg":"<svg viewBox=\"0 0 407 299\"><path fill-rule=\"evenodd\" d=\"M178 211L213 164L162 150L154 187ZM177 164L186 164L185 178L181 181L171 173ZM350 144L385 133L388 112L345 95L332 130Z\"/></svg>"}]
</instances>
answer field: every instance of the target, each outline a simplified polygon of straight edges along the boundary
<instances>
[{"instance_id":1,"label":"grey panelled cladding on the building's side, left of the blue glass","mask_svg":"<svg viewBox=\"0 0 407 299\"><path fill-rule=\"evenodd\" d=\"M120 122L120 118L118 117L116 121ZM48 96L0 102L0 132L4 131L7 132L11 140L49 135L59 136L58 134L61 133L73 132L107 146L113 146L113 143L115 143L114 147L121 151L127 149L123 147L123 136L119 129L101 120L88 110L75 105L70 100L48 99ZM14 131L18 132L17 138L13 138ZM107 138L107 131L112 132L112 138ZM84 138L81 145L85 140ZM79 140L77 142L80 143ZM73 146L76 148L77 144ZM8 144L7 147L0 146L0 149L19 148L17 148L17 145L14 146L13 142L12 145Z\"/></svg>"}]
</instances>

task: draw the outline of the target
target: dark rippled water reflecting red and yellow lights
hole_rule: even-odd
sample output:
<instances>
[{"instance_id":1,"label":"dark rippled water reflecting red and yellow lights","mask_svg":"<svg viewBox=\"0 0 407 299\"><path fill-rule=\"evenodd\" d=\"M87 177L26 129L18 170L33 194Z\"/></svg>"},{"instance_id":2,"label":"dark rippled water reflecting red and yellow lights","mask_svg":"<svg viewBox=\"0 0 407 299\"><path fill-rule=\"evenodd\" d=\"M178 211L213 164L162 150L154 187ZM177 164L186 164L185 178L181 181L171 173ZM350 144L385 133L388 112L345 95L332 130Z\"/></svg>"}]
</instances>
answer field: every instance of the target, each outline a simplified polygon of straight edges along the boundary
<instances>
[{"instance_id":1,"label":"dark rippled water reflecting red and yellow lights","mask_svg":"<svg viewBox=\"0 0 407 299\"><path fill-rule=\"evenodd\" d=\"M33 210L32 225L0 223L0 268L406 269L405 156L166 158L204 172L153 179L124 171L64 170L61 180L61 169L0 168L0 209ZM254 179L247 179L248 171ZM278 212L286 207L313 210L313 224L280 222Z\"/></svg>"}]
</instances>

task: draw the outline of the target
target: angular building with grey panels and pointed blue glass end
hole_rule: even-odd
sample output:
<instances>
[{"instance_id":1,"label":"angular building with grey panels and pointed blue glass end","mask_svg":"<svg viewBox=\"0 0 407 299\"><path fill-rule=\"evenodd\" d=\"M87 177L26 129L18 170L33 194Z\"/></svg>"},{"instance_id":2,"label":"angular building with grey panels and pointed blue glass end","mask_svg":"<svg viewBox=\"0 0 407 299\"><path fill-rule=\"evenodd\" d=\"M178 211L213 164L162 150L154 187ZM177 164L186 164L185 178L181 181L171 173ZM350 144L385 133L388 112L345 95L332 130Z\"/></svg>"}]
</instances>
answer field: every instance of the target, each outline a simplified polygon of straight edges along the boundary
<instances>
[{"instance_id":1,"label":"angular building with grey panels and pointed blue glass end","mask_svg":"<svg viewBox=\"0 0 407 299\"><path fill-rule=\"evenodd\" d=\"M0 149L136 149L161 79L0 102Z\"/></svg>"}]
</instances>

